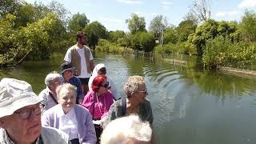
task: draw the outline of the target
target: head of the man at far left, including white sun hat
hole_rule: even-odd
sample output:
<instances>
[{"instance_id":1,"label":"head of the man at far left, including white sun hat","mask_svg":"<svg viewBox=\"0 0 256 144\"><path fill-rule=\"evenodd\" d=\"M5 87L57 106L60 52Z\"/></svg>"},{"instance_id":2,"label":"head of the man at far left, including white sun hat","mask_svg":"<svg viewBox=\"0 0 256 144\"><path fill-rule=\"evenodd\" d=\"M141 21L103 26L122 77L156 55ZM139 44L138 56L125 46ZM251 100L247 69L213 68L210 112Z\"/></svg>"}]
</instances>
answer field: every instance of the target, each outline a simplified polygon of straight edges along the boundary
<instances>
[{"instance_id":1,"label":"head of the man at far left, including white sun hat","mask_svg":"<svg viewBox=\"0 0 256 144\"><path fill-rule=\"evenodd\" d=\"M0 127L15 143L32 143L41 134L41 98L29 83L13 78L0 82Z\"/></svg>"}]
</instances>

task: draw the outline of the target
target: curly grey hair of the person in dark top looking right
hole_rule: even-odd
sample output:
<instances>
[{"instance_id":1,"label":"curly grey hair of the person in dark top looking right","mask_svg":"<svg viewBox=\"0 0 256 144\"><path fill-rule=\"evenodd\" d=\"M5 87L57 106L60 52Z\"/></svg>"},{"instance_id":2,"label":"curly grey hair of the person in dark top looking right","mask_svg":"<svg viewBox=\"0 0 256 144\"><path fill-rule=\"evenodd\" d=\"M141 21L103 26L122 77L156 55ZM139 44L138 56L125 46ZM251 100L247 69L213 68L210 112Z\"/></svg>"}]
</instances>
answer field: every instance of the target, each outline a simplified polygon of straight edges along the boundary
<instances>
[{"instance_id":1,"label":"curly grey hair of the person in dark top looking right","mask_svg":"<svg viewBox=\"0 0 256 144\"><path fill-rule=\"evenodd\" d=\"M145 84L145 79L142 76L134 75L130 76L123 86L123 89L125 90L127 98L130 98L131 93L138 91L140 86Z\"/></svg>"}]
</instances>

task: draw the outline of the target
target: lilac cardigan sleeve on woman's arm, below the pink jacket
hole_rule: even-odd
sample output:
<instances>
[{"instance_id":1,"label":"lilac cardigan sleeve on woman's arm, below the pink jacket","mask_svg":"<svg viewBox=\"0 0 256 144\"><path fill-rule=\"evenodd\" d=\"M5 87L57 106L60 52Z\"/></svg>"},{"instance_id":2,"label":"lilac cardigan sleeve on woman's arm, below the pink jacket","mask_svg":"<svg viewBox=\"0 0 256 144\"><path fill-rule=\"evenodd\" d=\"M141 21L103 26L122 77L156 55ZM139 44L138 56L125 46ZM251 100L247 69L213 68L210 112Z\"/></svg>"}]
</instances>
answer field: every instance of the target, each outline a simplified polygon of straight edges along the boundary
<instances>
[{"instance_id":1,"label":"lilac cardigan sleeve on woman's arm, below the pink jacket","mask_svg":"<svg viewBox=\"0 0 256 144\"><path fill-rule=\"evenodd\" d=\"M93 124L93 120L90 116L89 111L86 114L86 138L83 138L82 144L86 143L96 143L97 138L96 138L96 132Z\"/></svg>"}]
</instances>

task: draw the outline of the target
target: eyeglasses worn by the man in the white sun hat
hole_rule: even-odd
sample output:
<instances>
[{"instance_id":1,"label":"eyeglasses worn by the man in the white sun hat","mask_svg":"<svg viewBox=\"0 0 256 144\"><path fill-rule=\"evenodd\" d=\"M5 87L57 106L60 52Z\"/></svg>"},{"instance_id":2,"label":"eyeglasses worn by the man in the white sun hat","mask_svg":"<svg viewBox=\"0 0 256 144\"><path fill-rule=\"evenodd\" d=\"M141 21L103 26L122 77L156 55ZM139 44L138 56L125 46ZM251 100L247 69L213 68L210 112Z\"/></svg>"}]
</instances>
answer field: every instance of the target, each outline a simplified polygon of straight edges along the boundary
<instances>
[{"instance_id":1,"label":"eyeglasses worn by the man in the white sun hat","mask_svg":"<svg viewBox=\"0 0 256 144\"><path fill-rule=\"evenodd\" d=\"M43 108L44 108L44 105L40 104L39 107L37 107L37 108L21 110L21 111L18 111L18 112L14 112L14 114L18 114L19 118L28 119L32 115L32 112L35 115L41 114L42 111L43 111Z\"/></svg>"}]
</instances>

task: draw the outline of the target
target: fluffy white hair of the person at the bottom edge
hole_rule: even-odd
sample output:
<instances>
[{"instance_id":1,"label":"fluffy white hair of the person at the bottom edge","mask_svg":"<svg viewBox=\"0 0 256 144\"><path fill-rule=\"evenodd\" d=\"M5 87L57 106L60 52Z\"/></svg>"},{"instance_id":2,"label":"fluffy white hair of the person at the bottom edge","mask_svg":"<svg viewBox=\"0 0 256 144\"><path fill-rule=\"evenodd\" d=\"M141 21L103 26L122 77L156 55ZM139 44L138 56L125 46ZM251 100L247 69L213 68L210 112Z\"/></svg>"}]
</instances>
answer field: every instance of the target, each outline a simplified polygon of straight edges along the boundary
<instances>
[{"instance_id":1,"label":"fluffy white hair of the person at the bottom edge","mask_svg":"<svg viewBox=\"0 0 256 144\"><path fill-rule=\"evenodd\" d=\"M138 115L117 118L102 132L102 144L126 144L130 142L150 142L152 129L149 122L142 122Z\"/></svg>"}]
</instances>

